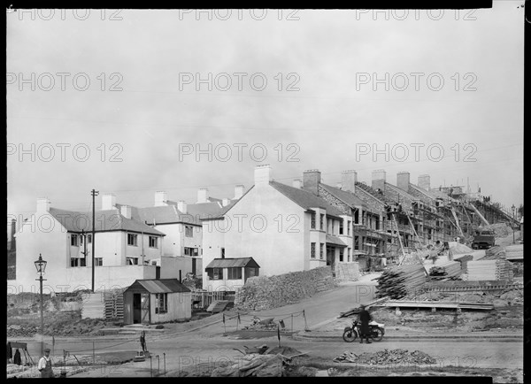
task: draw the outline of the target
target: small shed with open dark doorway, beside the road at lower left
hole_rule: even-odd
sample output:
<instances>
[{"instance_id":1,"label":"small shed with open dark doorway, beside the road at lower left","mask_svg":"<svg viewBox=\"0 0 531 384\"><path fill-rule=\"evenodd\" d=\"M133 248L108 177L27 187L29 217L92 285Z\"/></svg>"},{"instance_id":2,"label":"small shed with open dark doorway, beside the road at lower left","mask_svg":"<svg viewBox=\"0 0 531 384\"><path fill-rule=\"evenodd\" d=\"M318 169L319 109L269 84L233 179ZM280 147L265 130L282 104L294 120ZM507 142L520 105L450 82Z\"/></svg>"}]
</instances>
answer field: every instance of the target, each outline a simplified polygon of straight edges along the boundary
<instances>
[{"instance_id":1,"label":"small shed with open dark doorway, beside the road at lower left","mask_svg":"<svg viewBox=\"0 0 531 384\"><path fill-rule=\"evenodd\" d=\"M191 317L191 291L177 279L135 280L124 291L126 324L156 324Z\"/></svg>"}]
</instances>

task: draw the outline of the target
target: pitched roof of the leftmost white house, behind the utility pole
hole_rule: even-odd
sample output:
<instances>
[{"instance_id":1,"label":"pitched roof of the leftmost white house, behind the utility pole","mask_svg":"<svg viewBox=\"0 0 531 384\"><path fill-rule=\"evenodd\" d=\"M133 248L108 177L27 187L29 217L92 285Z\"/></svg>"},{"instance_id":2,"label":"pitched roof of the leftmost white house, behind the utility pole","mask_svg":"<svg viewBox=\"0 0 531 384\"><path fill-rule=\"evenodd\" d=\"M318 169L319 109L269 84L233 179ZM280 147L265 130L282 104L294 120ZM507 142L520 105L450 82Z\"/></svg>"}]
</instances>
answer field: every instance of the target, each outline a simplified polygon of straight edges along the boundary
<instances>
[{"instance_id":1,"label":"pitched roof of the leftmost white house, behind the utility pole","mask_svg":"<svg viewBox=\"0 0 531 384\"><path fill-rule=\"evenodd\" d=\"M81 233L81 231L92 231L92 213L50 208L50 214L57 219L68 232ZM95 217L96 222L94 223L94 227L96 232L127 231L165 236L165 234L157 229L144 224L143 221L125 218L117 210L96 211Z\"/></svg>"}]
</instances>

